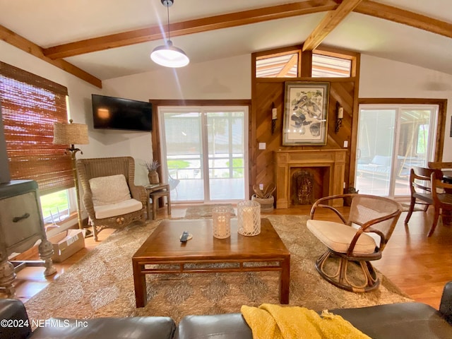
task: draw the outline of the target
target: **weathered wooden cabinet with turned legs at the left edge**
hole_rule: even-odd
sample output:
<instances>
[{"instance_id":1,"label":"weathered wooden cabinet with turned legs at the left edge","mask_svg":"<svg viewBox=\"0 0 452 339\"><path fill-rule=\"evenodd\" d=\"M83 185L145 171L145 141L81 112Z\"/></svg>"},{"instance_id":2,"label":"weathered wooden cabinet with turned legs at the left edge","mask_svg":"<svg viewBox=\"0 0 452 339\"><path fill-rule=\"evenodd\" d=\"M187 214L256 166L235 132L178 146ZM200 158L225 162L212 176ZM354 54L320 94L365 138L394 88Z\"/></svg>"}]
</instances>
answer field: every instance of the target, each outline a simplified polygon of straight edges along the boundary
<instances>
[{"instance_id":1,"label":"weathered wooden cabinet with turned legs at the left edge","mask_svg":"<svg viewBox=\"0 0 452 339\"><path fill-rule=\"evenodd\" d=\"M39 252L45 267L44 275L56 272L52 263L52 244L47 240L40 208L37 183L13 180L0 184L0 292L15 295L15 266L8 260L13 253L22 253L40 240Z\"/></svg>"}]
</instances>

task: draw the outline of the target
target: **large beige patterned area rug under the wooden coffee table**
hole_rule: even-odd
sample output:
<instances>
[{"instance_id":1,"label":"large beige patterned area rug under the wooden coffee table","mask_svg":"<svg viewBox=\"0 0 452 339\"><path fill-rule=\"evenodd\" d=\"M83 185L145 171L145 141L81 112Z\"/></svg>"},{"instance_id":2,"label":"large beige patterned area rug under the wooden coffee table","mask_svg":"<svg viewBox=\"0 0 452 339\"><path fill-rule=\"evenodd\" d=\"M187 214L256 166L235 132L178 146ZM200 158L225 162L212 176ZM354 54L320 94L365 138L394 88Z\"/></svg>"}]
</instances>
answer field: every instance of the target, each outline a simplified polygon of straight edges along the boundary
<instances>
[{"instance_id":1,"label":"large beige patterned area rug under the wooden coffee table","mask_svg":"<svg viewBox=\"0 0 452 339\"><path fill-rule=\"evenodd\" d=\"M291 252L290 304L323 310L410 302L380 275L374 292L340 290L323 280L314 262L324 251L306 216L268 215ZM136 309L131 256L160 221L110 235L79 263L25 303L30 319L171 316L239 312L242 304L278 304L278 273L198 273L148 277L148 304Z\"/></svg>"}]
</instances>

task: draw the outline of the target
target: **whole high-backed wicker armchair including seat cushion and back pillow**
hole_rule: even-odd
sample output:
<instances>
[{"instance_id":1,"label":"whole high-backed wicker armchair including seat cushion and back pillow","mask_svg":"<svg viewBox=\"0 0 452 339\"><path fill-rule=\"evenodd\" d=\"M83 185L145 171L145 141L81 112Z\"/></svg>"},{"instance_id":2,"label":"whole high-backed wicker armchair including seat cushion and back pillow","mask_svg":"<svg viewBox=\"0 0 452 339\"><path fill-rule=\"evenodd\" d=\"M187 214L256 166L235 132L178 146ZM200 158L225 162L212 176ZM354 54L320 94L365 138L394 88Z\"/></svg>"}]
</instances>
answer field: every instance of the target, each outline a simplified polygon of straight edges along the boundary
<instances>
[{"instance_id":1,"label":"whole high-backed wicker armchair including seat cushion and back pillow","mask_svg":"<svg viewBox=\"0 0 452 339\"><path fill-rule=\"evenodd\" d=\"M78 159L77 171L83 188L83 205L94 239L105 228L121 228L145 220L143 186L136 186L133 157Z\"/></svg>"}]
</instances>

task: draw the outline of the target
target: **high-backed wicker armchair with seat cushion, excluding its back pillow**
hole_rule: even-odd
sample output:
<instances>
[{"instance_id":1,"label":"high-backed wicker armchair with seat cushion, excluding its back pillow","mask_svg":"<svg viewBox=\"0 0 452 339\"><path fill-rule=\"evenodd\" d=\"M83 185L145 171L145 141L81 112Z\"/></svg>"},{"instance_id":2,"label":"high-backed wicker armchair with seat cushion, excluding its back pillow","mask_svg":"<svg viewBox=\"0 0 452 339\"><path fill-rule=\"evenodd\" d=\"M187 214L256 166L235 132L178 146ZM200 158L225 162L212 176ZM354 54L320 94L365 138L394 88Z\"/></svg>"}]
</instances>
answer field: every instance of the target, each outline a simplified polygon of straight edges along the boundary
<instances>
[{"instance_id":1,"label":"high-backed wicker armchair with seat cushion, excluding its back pillow","mask_svg":"<svg viewBox=\"0 0 452 339\"><path fill-rule=\"evenodd\" d=\"M144 222L146 194L143 186L136 186L133 183L135 178L135 162L133 157L78 159L76 164L78 176L83 188L83 205L88 213L90 224L93 226L93 235L96 242L97 234L105 228L121 228L132 222ZM126 201L127 198L124 199L126 206L118 206L123 203L123 201L112 205L104 203L102 204L103 206L96 206L96 199L93 202L95 196L93 196L90 179L108 179L112 178L112 176L118 177L118 174L124 175L126 179L126 184L124 184L124 186L128 186L129 189L129 193L126 192L128 200ZM124 179L122 180L124 181ZM93 181L91 183L93 184ZM109 213L103 213L104 217L102 218L100 217L102 214L100 213L100 210L101 208L105 208L105 206L107 206L107 208L109 207L110 210ZM105 215L107 216L105 217Z\"/></svg>"}]
</instances>

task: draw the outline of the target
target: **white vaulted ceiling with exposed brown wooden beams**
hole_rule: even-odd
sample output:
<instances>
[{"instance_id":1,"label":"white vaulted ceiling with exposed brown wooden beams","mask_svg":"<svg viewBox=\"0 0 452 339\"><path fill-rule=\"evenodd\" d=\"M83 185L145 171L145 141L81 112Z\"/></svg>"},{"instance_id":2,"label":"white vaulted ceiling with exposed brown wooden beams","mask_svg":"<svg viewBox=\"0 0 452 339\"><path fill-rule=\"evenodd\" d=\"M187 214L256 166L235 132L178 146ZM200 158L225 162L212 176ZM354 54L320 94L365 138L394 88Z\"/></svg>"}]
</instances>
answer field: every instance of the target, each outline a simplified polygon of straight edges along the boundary
<instances>
[{"instance_id":1,"label":"white vaulted ceiling with exposed brown wooden beams","mask_svg":"<svg viewBox=\"0 0 452 339\"><path fill-rule=\"evenodd\" d=\"M450 0L175 0L174 45L191 63L319 44L452 74ZM93 85L158 69L160 0L0 0L0 39Z\"/></svg>"}]
</instances>

